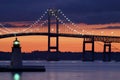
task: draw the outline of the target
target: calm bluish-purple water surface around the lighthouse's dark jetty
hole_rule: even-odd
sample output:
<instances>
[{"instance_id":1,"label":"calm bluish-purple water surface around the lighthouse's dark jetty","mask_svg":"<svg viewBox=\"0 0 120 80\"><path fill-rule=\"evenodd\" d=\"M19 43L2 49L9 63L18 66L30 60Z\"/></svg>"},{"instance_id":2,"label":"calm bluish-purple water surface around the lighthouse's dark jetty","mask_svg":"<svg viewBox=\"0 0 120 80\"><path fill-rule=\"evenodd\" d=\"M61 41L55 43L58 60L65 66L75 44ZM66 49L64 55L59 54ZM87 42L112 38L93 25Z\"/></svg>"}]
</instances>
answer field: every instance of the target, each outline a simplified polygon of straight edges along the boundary
<instances>
[{"instance_id":1,"label":"calm bluish-purple water surface around the lighthouse's dark jetty","mask_svg":"<svg viewBox=\"0 0 120 80\"><path fill-rule=\"evenodd\" d=\"M0 64L9 65L9 61ZM24 61L24 65L45 65L47 71L23 72L20 80L120 80L119 62ZM15 79L12 73L0 73L0 80Z\"/></svg>"}]
</instances>

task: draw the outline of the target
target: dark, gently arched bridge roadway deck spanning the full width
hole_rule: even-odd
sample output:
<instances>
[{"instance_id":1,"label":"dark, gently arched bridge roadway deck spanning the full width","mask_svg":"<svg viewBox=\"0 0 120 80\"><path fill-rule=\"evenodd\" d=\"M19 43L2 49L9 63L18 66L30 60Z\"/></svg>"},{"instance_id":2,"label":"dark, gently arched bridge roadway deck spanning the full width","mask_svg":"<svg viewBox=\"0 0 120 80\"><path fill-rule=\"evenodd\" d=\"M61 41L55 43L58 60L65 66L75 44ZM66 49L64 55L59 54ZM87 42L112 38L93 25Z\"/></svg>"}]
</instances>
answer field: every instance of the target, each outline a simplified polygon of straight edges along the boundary
<instances>
[{"instance_id":1,"label":"dark, gently arched bridge roadway deck spanning the full width","mask_svg":"<svg viewBox=\"0 0 120 80\"><path fill-rule=\"evenodd\" d=\"M0 39L14 37L14 36L30 36L30 35L43 35L47 36L47 32L30 32L30 33L17 33L17 34L4 34L0 35ZM101 36L101 35L81 35L81 34L63 34L63 33L50 33L51 36L59 36L59 37L74 37L74 38L86 38L86 39L94 39L94 41L101 42L110 42L110 43L120 43L120 36Z\"/></svg>"}]
</instances>

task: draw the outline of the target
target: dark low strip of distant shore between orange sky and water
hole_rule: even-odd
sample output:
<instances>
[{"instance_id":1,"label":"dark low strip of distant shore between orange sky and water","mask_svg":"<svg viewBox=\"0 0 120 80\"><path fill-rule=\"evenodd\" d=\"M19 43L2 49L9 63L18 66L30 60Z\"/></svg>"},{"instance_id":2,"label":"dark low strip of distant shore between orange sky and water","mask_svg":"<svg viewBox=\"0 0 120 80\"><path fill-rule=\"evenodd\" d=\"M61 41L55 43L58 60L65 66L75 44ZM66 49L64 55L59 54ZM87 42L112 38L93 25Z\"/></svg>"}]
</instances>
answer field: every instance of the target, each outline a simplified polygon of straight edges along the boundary
<instances>
[{"instance_id":1,"label":"dark low strip of distant shore between orange sky and water","mask_svg":"<svg viewBox=\"0 0 120 80\"><path fill-rule=\"evenodd\" d=\"M31 53L23 53L23 60L82 60L83 53L79 52L52 52L47 51L33 51ZM120 52L111 53L94 53L94 60L103 60L105 58L108 60L120 61ZM92 53L84 53L84 58L86 61L92 61ZM11 60L10 52L0 52L0 60Z\"/></svg>"}]
</instances>

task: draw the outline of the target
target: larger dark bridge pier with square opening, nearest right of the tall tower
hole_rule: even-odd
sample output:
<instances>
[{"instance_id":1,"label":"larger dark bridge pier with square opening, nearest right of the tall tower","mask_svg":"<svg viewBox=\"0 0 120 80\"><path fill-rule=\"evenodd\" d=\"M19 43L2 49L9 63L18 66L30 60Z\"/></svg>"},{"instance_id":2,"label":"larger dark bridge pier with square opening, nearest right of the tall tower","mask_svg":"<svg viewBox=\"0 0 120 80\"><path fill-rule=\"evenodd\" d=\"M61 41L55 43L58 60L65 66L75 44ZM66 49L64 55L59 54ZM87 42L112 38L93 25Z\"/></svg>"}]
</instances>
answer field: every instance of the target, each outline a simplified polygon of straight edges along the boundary
<instances>
[{"instance_id":1,"label":"larger dark bridge pier with square opening, nearest right of the tall tower","mask_svg":"<svg viewBox=\"0 0 120 80\"><path fill-rule=\"evenodd\" d=\"M87 44L91 44L92 45L91 50L86 50ZM91 55L91 53L92 53L92 55ZM83 40L82 60L83 61L86 61L86 60L94 61L94 37L92 37L92 38L84 38L84 40Z\"/></svg>"}]
</instances>

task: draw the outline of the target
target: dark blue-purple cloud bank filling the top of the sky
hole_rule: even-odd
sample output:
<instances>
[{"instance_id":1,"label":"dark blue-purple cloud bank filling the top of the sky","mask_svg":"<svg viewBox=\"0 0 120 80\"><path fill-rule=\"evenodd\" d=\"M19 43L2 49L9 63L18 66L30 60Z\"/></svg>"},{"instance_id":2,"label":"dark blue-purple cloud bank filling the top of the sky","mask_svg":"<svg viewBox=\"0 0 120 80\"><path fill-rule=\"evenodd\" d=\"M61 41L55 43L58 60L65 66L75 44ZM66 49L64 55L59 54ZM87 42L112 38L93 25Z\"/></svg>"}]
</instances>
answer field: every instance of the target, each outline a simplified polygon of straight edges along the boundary
<instances>
[{"instance_id":1,"label":"dark blue-purple cloud bank filling the top of the sky","mask_svg":"<svg viewBox=\"0 0 120 80\"><path fill-rule=\"evenodd\" d=\"M37 19L47 8L60 8L75 22L120 22L120 0L0 0L0 21Z\"/></svg>"}]
</instances>

